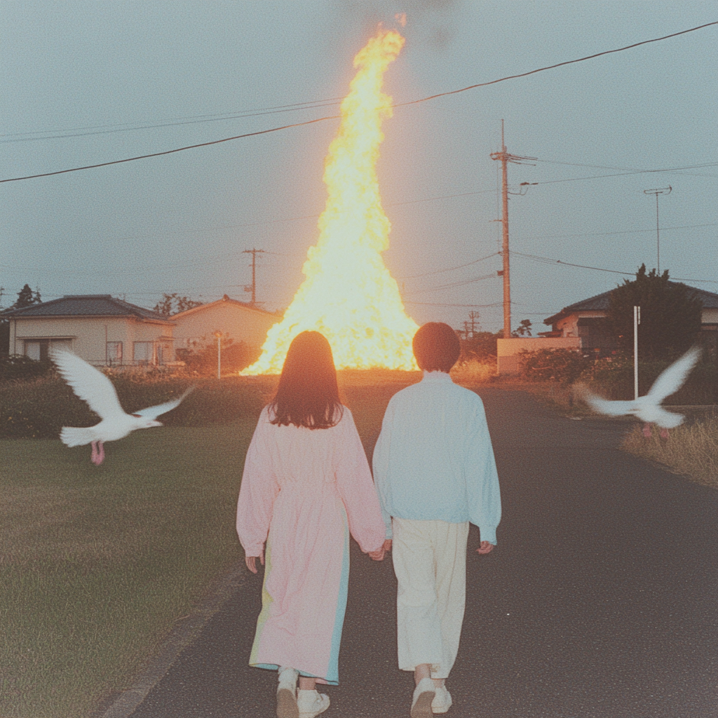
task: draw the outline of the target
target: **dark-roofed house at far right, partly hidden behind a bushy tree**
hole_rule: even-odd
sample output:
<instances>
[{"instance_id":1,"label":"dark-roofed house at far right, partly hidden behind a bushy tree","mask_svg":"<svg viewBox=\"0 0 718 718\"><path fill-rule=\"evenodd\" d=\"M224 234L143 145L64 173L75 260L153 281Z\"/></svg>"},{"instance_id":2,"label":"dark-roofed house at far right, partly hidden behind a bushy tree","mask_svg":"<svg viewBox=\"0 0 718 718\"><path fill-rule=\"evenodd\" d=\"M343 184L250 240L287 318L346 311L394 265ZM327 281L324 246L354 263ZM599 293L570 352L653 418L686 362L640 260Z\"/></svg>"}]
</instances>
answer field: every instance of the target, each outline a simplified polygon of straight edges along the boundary
<instances>
[{"instance_id":1,"label":"dark-roofed house at far right, partly hidden behind a bushy tree","mask_svg":"<svg viewBox=\"0 0 718 718\"><path fill-rule=\"evenodd\" d=\"M718 346L718 294L692 286L689 289L703 304L701 342L714 353ZM551 326L550 332L538 333L544 337L579 337L583 350L591 351L598 356L615 353L617 345L603 322L608 312L610 295L611 292L603 292L595 297L569 304L568 307L544 320L544 324Z\"/></svg>"}]
</instances>

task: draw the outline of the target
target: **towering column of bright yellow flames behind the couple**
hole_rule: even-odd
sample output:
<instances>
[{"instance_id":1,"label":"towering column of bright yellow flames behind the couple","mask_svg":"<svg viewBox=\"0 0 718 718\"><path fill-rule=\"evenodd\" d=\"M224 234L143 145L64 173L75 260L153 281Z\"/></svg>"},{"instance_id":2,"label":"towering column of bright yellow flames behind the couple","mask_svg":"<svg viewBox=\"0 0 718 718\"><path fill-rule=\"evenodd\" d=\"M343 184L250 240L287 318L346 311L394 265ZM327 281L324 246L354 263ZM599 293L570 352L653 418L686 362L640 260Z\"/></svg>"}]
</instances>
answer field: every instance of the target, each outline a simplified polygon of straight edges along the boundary
<instances>
[{"instance_id":1,"label":"towering column of bright yellow flames behind the couple","mask_svg":"<svg viewBox=\"0 0 718 718\"><path fill-rule=\"evenodd\" d=\"M403 45L398 32L380 27L354 58L359 70L325 159L327 205L302 267L305 279L284 319L267 333L261 357L243 374L281 372L289 343L304 330L327 337L337 368L416 369L411 339L418 325L404 312L381 257L391 224L376 177L381 121L392 114L383 75Z\"/></svg>"}]
</instances>

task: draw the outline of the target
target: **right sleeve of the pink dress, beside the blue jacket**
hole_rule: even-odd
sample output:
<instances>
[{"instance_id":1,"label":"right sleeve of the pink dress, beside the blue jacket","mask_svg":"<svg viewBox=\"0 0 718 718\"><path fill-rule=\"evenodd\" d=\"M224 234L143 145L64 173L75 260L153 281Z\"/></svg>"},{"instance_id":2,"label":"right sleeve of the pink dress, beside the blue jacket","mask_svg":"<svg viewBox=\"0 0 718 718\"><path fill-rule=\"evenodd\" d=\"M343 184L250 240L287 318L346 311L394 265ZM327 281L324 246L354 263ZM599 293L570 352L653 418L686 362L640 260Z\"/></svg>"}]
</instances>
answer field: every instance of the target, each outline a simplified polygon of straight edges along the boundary
<instances>
[{"instance_id":1,"label":"right sleeve of the pink dress, beside the blue jacket","mask_svg":"<svg viewBox=\"0 0 718 718\"><path fill-rule=\"evenodd\" d=\"M347 511L349 531L364 553L381 549L384 523L369 463L359 438L354 419L344 409L341 422L341 446L336 468L337 489Z\"/></svg>"}]
</instances>

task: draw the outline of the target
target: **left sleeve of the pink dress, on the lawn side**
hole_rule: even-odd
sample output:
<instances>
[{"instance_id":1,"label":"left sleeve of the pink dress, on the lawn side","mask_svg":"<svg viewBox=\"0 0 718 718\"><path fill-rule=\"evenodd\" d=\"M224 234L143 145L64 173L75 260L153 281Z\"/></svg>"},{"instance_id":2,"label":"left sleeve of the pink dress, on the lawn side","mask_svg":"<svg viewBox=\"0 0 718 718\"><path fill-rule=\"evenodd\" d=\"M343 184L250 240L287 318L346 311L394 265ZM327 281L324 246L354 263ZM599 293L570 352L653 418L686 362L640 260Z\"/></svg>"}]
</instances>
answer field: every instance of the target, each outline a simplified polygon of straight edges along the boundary
<instances>
[{"instance_id":1,"label":"left sleeve of the pink dress, on the lawn side","mask_svg":"<svg viewBox=\"0 0 718 718\"><path fill-rule=\"evenodd\" d=\"M259 556L264 548L274 500L279 493L269 450L273 429L264 409L247 449L237 501L237 535L246 556Z\"/></svg>"}]
</instances>

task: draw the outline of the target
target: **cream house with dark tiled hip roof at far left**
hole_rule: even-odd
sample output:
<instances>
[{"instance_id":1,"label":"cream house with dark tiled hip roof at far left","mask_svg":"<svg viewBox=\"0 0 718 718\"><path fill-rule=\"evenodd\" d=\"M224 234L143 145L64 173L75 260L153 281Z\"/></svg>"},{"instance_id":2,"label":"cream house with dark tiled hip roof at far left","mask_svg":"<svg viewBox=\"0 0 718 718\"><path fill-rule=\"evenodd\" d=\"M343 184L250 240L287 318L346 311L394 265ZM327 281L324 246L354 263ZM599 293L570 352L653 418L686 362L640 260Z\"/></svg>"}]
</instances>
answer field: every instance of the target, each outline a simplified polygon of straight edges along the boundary
<instances>
[{"instance_id":1,"label":"cream house with dark tiled hip roof at far left","mask_svg":"<svg viewBox=\"0 0 718 718\"><path fill-rule=\"evenodd\" d=\"M6 309L10 353L46 359L67 348L93 365L161 365L174 361L174 322L110 294L68 295Z\"/></svg>"}]
</instances>

